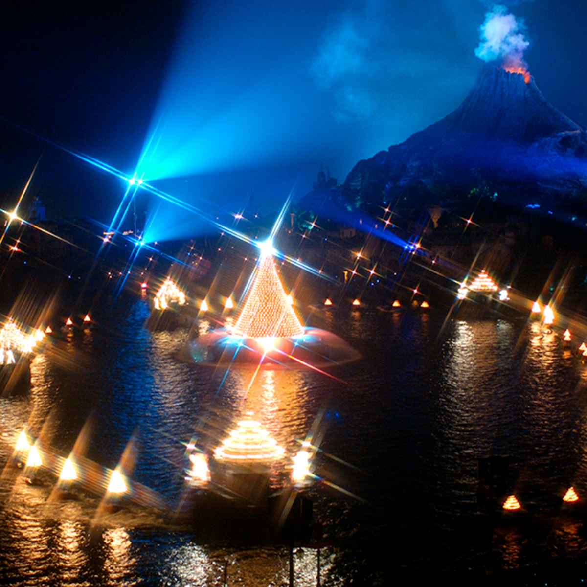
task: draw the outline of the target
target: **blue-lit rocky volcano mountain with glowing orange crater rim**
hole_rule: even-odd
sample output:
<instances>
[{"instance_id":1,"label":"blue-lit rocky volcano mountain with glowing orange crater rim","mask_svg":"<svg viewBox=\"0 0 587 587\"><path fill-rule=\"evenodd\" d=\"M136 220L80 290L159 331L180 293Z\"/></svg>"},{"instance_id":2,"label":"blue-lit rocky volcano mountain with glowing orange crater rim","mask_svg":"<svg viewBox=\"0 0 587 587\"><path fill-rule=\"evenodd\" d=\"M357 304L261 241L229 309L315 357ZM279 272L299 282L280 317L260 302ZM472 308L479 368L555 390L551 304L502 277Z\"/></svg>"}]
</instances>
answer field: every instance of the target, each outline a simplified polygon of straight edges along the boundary
<instances>
[{"instance_id":1,"label":"blue-lit rocky volcano mountain with glowing orange crater rim","mask_svg":"<svg viewBox=\"0 0 587 587\"><path fill-rule=\"evenodd\" d=\"M587 193L585 130L552 106L528 73L487 65L463 103L404 143L359 161L347 201L448 204L487 187L514 205Z\"/></svg>"}]
</instances>

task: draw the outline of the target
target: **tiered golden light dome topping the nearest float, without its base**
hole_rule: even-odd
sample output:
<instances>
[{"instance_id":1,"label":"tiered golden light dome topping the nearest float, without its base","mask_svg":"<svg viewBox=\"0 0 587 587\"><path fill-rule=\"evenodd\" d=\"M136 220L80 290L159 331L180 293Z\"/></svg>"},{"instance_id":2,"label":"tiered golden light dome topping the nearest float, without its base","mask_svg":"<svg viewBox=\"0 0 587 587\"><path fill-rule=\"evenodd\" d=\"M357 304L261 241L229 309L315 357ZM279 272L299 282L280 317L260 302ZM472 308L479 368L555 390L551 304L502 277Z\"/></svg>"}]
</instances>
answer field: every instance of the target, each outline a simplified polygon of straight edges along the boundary
<instances>
[{"instance_id":1,"label":"tiered golden light dome topping the nearest float, without its base","mask_svg":"<svg viewBox=\"0 0 587 587\"><path fill-rule=\"evenodd\" d=\"M257 420L241 420L222 444L215 448L218 461L263 462L281 458L284 448L269 436Z\"/></svg>"}]
</instances>

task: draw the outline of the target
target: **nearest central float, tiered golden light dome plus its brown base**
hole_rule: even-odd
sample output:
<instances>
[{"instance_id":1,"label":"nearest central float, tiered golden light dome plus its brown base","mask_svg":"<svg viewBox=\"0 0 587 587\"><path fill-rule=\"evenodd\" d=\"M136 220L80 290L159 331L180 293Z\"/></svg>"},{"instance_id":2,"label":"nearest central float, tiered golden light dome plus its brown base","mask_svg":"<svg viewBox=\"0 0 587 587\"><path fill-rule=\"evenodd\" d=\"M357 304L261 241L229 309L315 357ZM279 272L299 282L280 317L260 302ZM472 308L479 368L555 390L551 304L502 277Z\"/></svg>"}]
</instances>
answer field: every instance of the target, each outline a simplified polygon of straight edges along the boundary
<instances>
[{"instance_id":1,"label":"nearest central float, tiered golden light dome plus its brown base","mask_svg":"<svg viewBox=\"0 0 587 587\"><path fill-rule=\"evenodd\" d=\"M214 450L219 465L215 483L248 504L264 505L269 495L271 465L285 450L257 420L241 420Z\"/></svg>"}]
</instances>

